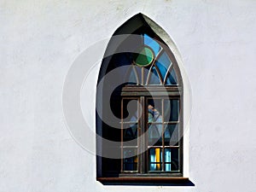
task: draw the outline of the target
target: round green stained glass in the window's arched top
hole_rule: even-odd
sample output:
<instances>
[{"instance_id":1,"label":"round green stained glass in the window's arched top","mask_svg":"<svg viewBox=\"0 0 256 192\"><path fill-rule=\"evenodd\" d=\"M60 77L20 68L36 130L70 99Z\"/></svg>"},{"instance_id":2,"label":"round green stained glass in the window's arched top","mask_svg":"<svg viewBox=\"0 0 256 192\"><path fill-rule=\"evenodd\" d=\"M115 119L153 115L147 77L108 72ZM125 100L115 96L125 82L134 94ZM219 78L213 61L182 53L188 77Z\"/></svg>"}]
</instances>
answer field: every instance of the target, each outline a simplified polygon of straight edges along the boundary
<instances>
[{"instance_id":1,"label":"round green stained glass in the window's arched top","mask_svg":"<svg viewBox=\"0 0 256 192\"><path fill-rule=\"evenodd\" d=\"M135 54L135 63L139 67L146 67L151 64L151 62L154 59L154 53L152 49L148 47L143 47L141 51L138 51L137 54Z\"/></svg>"}]
</instances>

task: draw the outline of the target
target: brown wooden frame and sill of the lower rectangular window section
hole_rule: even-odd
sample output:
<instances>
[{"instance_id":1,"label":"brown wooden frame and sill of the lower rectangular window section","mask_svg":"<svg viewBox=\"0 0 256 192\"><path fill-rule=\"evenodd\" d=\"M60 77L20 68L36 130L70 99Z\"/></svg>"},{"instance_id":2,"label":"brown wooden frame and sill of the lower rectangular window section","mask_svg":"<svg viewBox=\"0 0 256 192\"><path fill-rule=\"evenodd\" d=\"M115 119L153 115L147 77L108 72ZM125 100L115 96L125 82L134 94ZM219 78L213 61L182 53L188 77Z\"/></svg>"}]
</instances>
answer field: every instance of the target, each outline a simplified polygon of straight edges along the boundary
<instances>
[{"instance_id":1,"label":"brown wooden frame and sill of the lower rectangular window section","mask_svg":"<svg viewBox=\"0 0 256 192\"><path fill-rule=\"evenodd\" d=\"M141 104L143 104L143 111L146 111L146 106L144 105L145 99L152 98L151 94L154 93L154 99L179 99L179 119L177 122L179 126L180 134L183 134L183 87L177 85L170 86L137 86L137 85L126 85L122 89L122 101L123 99L138 99ZM163 107L162 107L163 108ZM123 109L121 109L123 110ZM146 114L142 114L143 117ZM145 129L146 118L143 119L143 122L139 124L142 125L142 130L138 131L138 134L141 134ZM169 122L170 123L170 122ZM122 132L122 131L121 131ZM140 132L140 133L139 133ZM144 139L144 138L143 138ZM140 141L138 144L145 144L145 141ZM96 180L102 183L184 183L188 182L188 177L183 177L183 137L179 138L179 172L170 173L170 172L145 172L148 170L146 166L146 155L148 150L145 153L140 154L141 157L138 161L138 170L137 172L121 172L118 177L97 177ZM173 148L177 148L172 146ZM172 148L169 146L168 148ZM138 145L138 148L141 146ZM165 148L162 146L162 148ZM123 166L123 163L121 163Z\"/></svg>"}]
</instances>

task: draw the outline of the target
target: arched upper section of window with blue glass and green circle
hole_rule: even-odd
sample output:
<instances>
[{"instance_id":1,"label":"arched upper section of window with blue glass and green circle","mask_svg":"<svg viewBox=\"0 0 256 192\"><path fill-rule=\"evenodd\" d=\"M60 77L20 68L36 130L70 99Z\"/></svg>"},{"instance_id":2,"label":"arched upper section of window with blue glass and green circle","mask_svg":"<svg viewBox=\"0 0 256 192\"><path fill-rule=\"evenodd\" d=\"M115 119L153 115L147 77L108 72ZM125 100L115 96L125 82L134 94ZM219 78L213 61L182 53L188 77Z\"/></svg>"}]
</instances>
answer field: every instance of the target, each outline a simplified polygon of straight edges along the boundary
<instances>
[{"instance_id":1,"label":"arched upper section of window with blue glass and green circle","mask_svg":"<svg viewBox=\"0 0 256 192\"><path fill-rule=\"evenodd\" d=\"M160 44L143 33L142 47L132 55L127 82L137 85L177 85L177 75L170 56ZM152 75L153 74L153 75ZM134 84L134 83L133 83Z\"/></svg>"}]
</instances>

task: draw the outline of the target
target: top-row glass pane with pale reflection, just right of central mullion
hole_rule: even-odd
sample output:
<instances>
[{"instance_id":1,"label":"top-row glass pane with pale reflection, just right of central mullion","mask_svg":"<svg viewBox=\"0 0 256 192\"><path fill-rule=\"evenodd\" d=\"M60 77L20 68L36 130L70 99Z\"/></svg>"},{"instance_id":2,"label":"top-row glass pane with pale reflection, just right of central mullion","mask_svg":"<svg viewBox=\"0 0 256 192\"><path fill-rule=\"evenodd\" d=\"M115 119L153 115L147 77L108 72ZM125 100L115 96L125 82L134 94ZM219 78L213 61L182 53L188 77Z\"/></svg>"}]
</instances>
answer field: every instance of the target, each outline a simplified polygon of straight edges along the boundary
<instances>
[{"instance_id":1,"label":"top-row glass pane with pale reflection, just right of central mullion","mask_svg":"<svg viewBox=\"0 0 256 192\"><path fill-rule=\"evenodd\" d=\"M160 99L148 99L148 123L159 123L163 121L161 110L162 103Z\"/></svg>"}]
</instances>

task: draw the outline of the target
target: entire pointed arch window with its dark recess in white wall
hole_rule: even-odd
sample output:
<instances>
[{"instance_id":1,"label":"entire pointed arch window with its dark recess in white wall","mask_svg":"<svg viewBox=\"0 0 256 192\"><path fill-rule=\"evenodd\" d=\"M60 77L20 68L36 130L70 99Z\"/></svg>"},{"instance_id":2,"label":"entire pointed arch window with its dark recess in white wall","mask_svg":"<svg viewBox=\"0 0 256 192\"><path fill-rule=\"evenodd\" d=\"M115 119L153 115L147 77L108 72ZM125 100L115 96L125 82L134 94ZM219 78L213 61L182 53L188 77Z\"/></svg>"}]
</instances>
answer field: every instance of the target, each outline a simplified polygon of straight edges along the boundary
<instances>
[{"instance_id":1,"label":"entire pointed arch window with its dark recess in white wall","mask_svg":"<svg viewBox=\"0 0 256 192\"><path fill-rule=\"evenodd\" d=\"M171 49L148 20L139 14L120 26L113 34L120 38L110 40L102 61L98 79L102 87L96 97L96 107L102 109L96 113L96 131L103 138L97 139L101 182L187 179L183 177L183 82ZM104 79L111 73L112 81ZM109 90L113 90L110 101L104 101Z\"/></svg>"}]
</instances>

